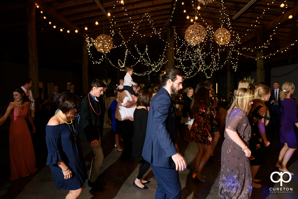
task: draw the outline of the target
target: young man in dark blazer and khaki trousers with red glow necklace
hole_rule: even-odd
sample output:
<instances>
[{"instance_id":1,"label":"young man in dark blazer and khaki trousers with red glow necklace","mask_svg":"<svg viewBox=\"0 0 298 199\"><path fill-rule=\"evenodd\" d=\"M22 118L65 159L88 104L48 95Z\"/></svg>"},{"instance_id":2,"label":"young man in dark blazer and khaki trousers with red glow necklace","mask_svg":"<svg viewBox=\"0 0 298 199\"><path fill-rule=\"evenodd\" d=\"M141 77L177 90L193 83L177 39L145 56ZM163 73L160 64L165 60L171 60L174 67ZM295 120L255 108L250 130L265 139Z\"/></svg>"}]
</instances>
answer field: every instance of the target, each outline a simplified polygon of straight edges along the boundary
<instances>
[{"instance_id":1,"label":"young man in dark blazer and khaki trousers with red glow necklace","mask_svg":"<svg viewBox=\"0 0 298 199\"><path fill-rule=\"evenodd\" d=\"M94 153L88 186L92 187L96 191L103 191L104 188L102 186L106 184L105 182L96 182L102 161L104 160L104 154L101 148L101 137L99 135L99 115L101 113L101 109L97 98L103 94L105 87L106 85L104 82L99 79L92 81L91 91L81 101L80 122L78 124L78 130L83 135L86 135L87 141L91 143Z\"/></svg>"}]
</instances>

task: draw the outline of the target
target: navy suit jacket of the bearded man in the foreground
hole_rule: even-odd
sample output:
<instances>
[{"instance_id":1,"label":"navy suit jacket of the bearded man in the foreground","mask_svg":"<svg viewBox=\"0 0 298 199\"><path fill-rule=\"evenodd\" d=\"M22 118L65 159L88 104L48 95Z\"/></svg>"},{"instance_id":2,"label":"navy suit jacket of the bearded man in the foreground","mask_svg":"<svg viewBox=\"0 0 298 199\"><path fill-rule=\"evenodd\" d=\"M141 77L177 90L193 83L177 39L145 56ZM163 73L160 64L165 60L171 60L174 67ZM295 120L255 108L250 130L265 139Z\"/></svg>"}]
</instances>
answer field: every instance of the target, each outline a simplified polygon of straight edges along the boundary
<instances>
[{"instance_id":1,"label":"navy suit jacket of the bearded man in the foreground","mask_svg":"<svg viewBox=\"0 0 298 199\"><path fill-rule=\"evenodd\" d=\"M172 155L177 153L175 107L169 92L161 88L152 98L142 156L154 166L174 168Z\"/></svg>"}]
</instances>

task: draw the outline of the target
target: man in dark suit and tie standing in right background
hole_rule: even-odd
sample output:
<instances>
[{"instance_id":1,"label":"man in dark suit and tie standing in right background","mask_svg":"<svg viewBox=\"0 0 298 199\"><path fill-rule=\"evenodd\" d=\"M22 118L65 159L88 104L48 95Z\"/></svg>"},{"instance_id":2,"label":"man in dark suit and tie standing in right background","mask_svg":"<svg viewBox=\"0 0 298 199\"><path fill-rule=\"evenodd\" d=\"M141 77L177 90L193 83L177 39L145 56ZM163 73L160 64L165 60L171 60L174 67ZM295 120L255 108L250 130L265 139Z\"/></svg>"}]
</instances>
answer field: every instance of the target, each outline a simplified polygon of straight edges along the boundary
<instances>
[{"instance_id":1,"label":"man in dark suit and tie standing in right background","mask_svg":"<svg viewBox=\"0 0 298 199\"><path fill-rule=\"evenodd\" d=\"M280 83L277 81L273 83L274 89L271 90L270 96L270 109L271 109L271 121L273 125L279 124L280 114Z\"/></svg>"}]
</instances>

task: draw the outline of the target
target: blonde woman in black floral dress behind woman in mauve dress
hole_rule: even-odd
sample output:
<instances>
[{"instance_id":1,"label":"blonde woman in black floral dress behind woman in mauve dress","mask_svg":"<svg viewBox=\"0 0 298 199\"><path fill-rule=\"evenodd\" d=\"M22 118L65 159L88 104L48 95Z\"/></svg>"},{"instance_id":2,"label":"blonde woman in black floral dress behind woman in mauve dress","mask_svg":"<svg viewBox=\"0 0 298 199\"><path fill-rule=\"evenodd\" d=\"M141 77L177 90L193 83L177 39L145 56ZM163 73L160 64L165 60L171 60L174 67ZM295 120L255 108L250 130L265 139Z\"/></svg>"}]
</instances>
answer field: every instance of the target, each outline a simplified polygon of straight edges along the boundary
<instances>
[{"instance_id":1,"label":"blonde woman in black floral dress behind woman in mauve dress","mask_svg":"<svg viewBox=\"0 0 298 199\"><path fill-rule=\"evenodd\" d=\"M270 120L270 113L265 105L265 102L270 99L271 90L266 85L259 85L255 87L254 105L251 108L251 116L249 123L251 125L251 139L249 146L251 149L250 165L252 186L254 188L261 188L262 186L256 182L261 180L254 179L260 165L265 163L265 146L269 146L270 142L267 140L265 126Z\"/></svg>"}]
</instances>

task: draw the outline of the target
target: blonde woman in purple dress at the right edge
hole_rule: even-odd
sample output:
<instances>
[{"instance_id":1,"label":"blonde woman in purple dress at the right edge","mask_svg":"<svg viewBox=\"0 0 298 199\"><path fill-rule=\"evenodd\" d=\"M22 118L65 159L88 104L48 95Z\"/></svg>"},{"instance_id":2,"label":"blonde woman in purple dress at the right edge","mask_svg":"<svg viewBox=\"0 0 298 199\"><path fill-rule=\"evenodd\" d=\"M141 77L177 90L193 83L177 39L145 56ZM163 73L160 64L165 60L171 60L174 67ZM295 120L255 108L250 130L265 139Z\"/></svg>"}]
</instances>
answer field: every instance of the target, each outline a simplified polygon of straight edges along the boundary
<instances>
[{"instance_id":1,"label":"blonde woman in purple dress at the right edge","mask_svg":"<svg viewBox=\"0 0 298 199\"><path fill-rule=\"evenodd\" d=\"M294 90L294 84L287 81L282 84L282 91L280 92L280 113L282 114L280 118L280 143L285 143L285 145L280 151L275 166L283 172L290 172L287 169L287 163L298 147L295 132L295 125L298 127L297 104L291 98ZM292 172L290 173L294 175Z\"/></svg>"}]
</instances>

